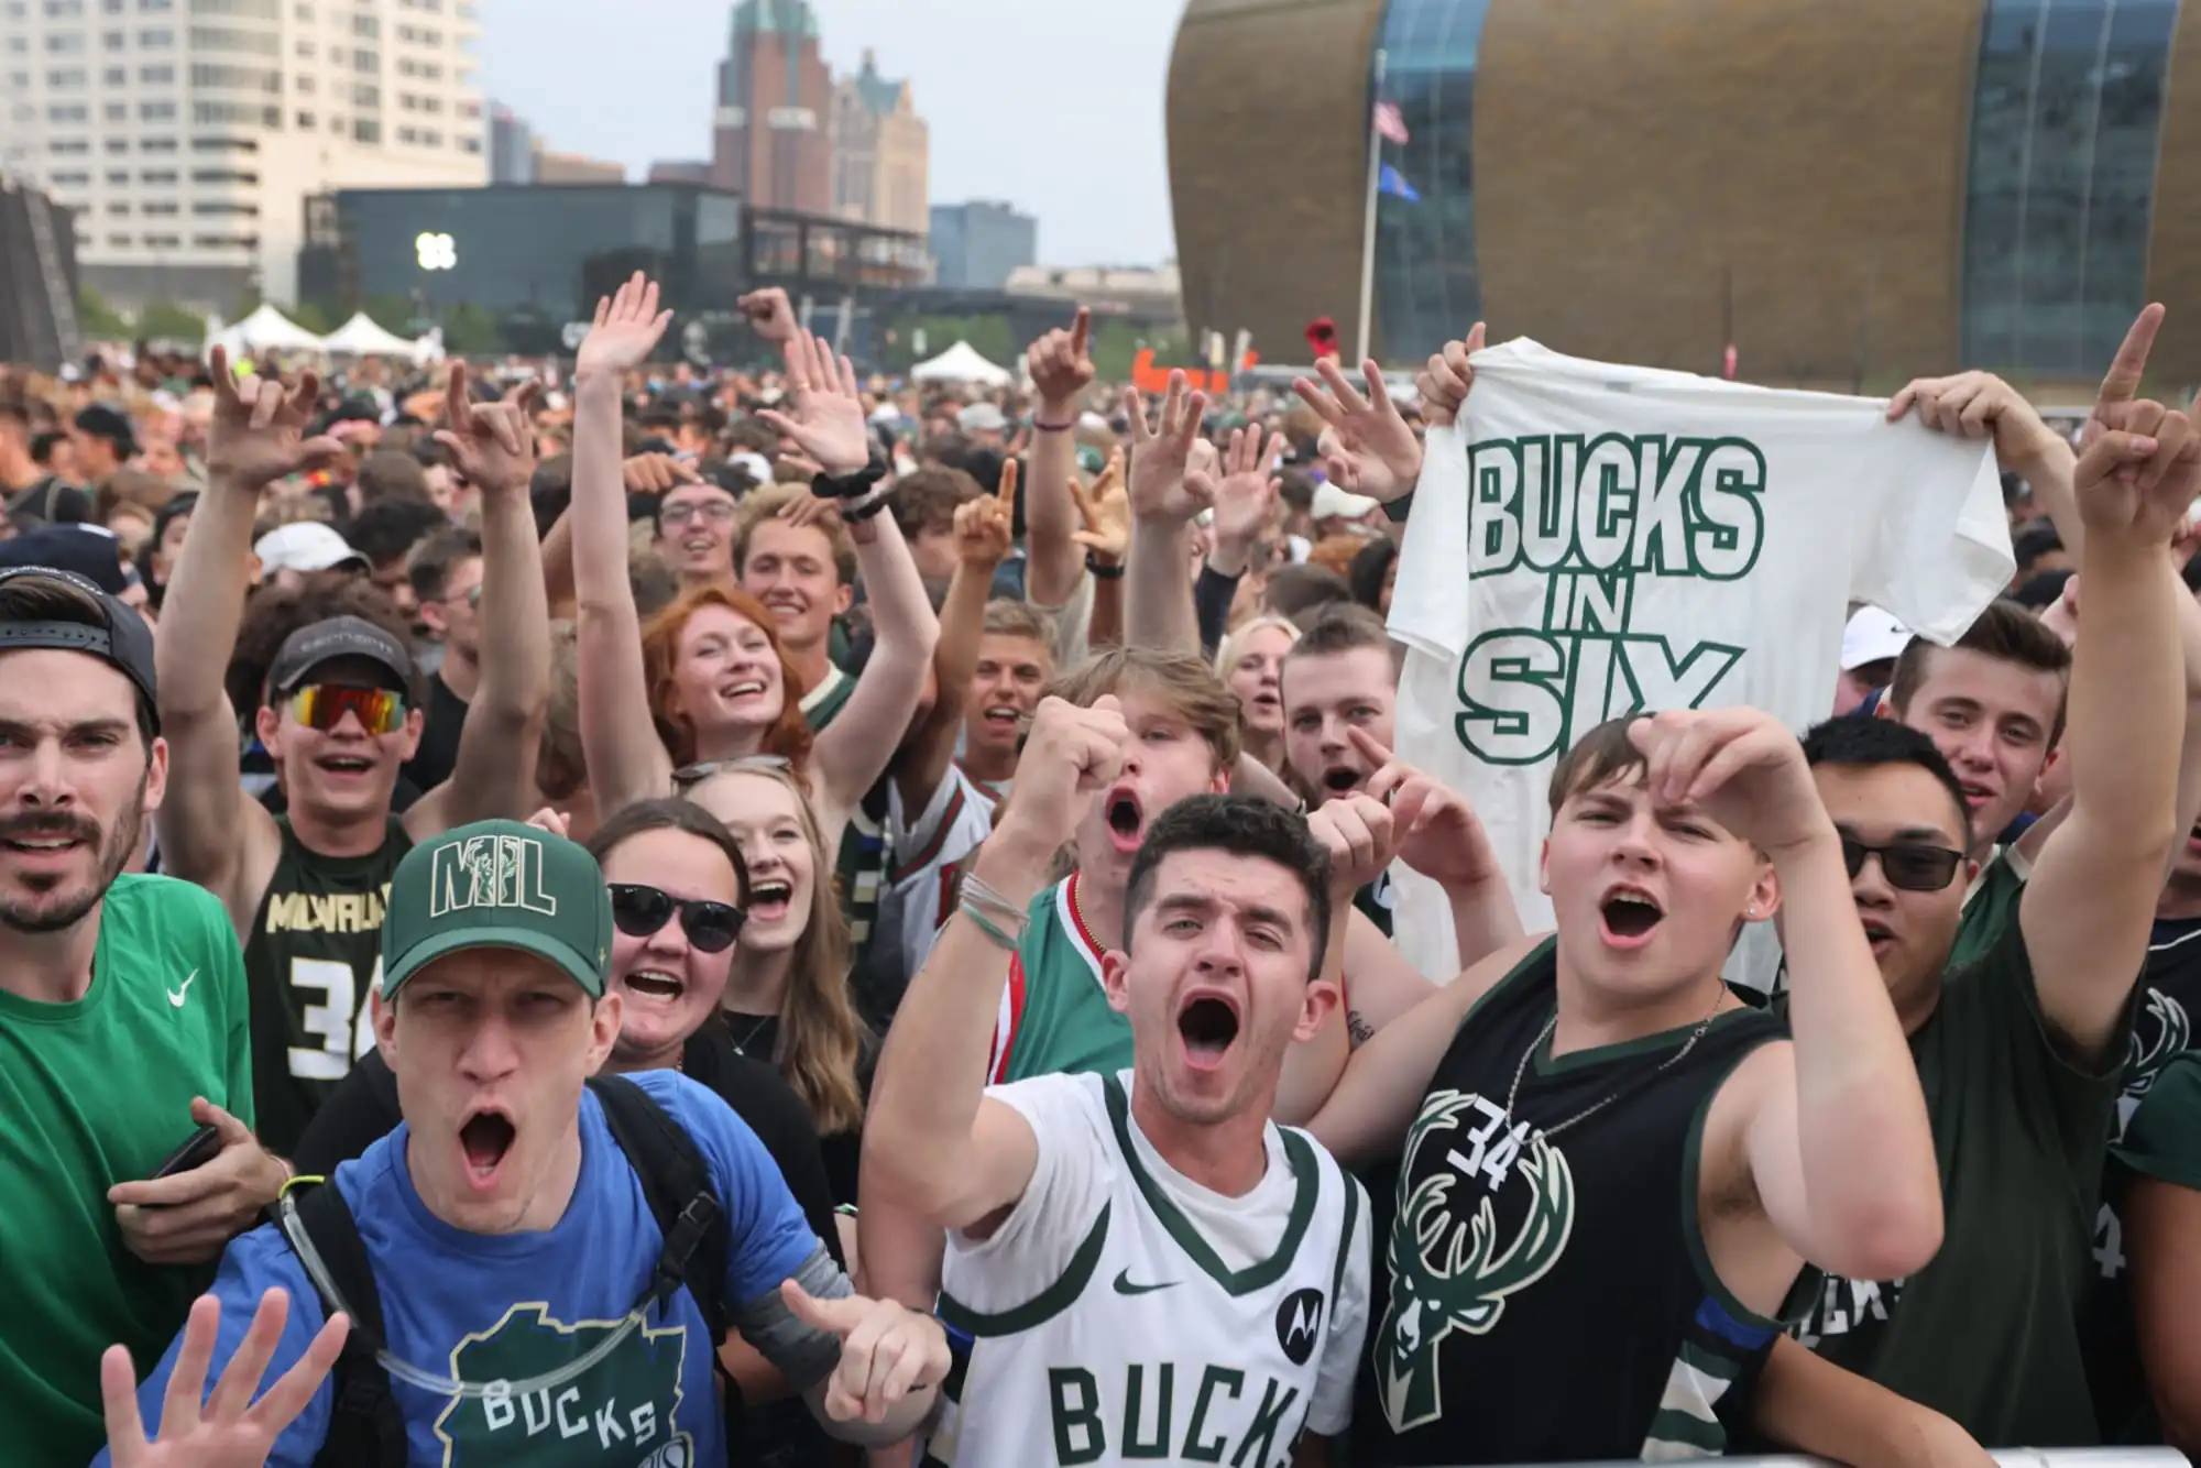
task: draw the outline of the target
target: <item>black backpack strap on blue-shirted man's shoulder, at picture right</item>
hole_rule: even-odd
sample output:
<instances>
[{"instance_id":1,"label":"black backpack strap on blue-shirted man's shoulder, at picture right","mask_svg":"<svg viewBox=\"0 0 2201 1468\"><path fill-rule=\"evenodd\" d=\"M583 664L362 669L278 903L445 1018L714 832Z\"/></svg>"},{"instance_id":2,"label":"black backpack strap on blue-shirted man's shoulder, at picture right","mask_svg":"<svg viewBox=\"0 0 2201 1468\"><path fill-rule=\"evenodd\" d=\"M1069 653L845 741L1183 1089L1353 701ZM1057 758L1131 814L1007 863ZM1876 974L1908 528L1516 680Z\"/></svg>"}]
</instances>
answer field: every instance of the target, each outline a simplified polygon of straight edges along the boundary
<instances>
[{"instance_id":1,"label":"black backpack strap on blue-shirted man's shoulder, at picture right","mask_svg":"<svg viewBox=\"0 0 2201 1468\"><path fill-rule=\"evenodd\" d=\"M663 1307L687 1288L711 1332L715 1356L729 1332L724 1290L731 1244L711 1169L696 1149L696 1138L627 1076L596 1076L588 1089L596 1092L612 1140L627 1153L665 1239L649 1290L636 1303Z\"/></svg>"}]
</instances>

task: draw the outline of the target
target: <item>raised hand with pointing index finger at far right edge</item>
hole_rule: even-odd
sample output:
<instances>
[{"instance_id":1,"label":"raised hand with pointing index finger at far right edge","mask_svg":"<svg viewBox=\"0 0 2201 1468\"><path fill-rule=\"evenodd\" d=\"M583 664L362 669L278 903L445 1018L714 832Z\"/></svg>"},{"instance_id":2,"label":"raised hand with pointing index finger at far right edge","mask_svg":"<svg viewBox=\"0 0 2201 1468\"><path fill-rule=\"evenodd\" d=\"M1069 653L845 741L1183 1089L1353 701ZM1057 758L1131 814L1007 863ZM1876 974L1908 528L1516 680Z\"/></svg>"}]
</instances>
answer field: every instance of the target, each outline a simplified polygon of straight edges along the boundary
<instances>
[{"instance_id":1,"label":"raised hand with pointing index finger at far right edge","mask_svg":"<svg viewBox=\"0 0 2201 1468\"><path fill-rule=\"evenodd\" d=\"M2071 480L2089 537L2168 546L2186 530L2201 491L2201 436L2192 416L2137 396L2161 324L2161 306L2148 306L2133 321L2080 436ZM2194 409L2201 412L2201 403Z\"/></svg>"}]
</instances>

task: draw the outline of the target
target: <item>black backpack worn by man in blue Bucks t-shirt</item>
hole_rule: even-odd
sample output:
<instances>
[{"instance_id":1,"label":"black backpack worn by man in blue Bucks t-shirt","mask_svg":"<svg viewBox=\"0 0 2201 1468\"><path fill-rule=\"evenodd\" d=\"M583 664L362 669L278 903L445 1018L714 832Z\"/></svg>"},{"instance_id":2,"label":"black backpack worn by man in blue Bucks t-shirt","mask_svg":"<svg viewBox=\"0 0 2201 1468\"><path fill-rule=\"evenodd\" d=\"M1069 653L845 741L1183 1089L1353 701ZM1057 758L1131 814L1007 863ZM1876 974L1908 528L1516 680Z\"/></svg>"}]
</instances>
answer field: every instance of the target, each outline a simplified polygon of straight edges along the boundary
<instances>
[{"instance_id":1,"label":"black backpack worn by man in blue Bucks t-shirt","mask_svg":"<svg viewBox=\"0 0 2201 1468\"><path fill-rule=\"evenodd\" d=\"M634 1175L640 1177L643 1197L649 1202L649 1215L665 1237L658 1268L651 1272L643 1299L636 1301L636 1310L663 1310L674 1294L687 1290L711 1332L715 1367L715 1347L726 1338L726 1301L720 1292L726 1281L729 1230L726 1210L711 1188L702 1153L696 1151L693 1138L680 1122L667 1116L665 1107L634 1081L596 1076L588 1089L596 1092L596 1100L603 1103L603 1120L612 1129L612 1140L627 1153ZM328 1182L293 1186L286 1197L295 1204L295 1226L304 1230L321 1257L341 1305L352 1316L352 1334L346 1336L343 1354L328 1378L337 1402L328 1437L313 1459L315 1468L405 1468L405 1417L396 1398L390 1395L390 1373L374 1360L374 1354L383 1349L383 1303L352 1208L343 1202L343 1193ZM291 1233L291 1219L282 1215L282 1202L269 1208L269 1217L297 1252L299 1241ZM324 1299L321 1305L335 1312L339 1301ZM724 1387L726 1444L733 1450L740 1398L733 1382L724 1382Z\"/></svg>"}]
</instances>

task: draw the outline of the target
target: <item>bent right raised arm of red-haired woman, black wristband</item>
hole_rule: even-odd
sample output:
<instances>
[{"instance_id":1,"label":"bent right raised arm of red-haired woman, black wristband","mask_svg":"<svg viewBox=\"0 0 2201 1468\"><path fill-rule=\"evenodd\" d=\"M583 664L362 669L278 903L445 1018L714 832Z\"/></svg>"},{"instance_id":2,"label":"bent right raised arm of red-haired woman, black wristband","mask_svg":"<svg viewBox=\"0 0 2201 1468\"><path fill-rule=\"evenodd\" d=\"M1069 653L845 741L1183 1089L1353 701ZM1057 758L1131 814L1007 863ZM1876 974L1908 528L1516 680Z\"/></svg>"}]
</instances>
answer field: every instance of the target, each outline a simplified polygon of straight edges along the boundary
<instances>
[{"instance_id":1,"label":"bent right raised arm of red-haired woman, black wristband","mask_svg":"<svg viewBox=\"0 0 2201 1468\"><path fill-rule=\"evenodd\" d=\"M823 337L795 332L788 339L788 407L792 414L762 412L757 418L795 440L825 478L845 480L872 462L856 365L847 357L834 361ZM847 709L819 735L810 759L825 801L836 810L854 810L909 733L909 717L924 698L924 671L940 643L940 621L924 596L924 579L902 541L902 528L885 513L883 497L874 493L845 508L843 517L856 541L856 568L872 599L872 632L878 640L847 695Z\"/></svg>"}]
</instances>

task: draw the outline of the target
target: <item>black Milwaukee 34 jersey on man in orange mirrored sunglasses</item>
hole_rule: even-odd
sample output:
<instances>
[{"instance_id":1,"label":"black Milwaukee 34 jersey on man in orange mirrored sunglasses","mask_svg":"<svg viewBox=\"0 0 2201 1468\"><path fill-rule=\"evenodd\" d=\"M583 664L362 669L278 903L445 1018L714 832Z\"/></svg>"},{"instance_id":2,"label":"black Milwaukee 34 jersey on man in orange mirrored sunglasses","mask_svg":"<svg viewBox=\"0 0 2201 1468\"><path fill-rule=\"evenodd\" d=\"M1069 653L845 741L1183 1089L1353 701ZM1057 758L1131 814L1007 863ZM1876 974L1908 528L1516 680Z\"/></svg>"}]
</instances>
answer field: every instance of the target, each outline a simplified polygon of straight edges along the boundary
<instances>
[{"instance_id":1,"label":"black Milwaukee 34 jersey on man in orange mirrored sunglasses","mask_svg":"<svg viewBox=\"0 0 2201 1468\"><path fill-rule=\"evenodd\" d=\"M321 856L288 817L275 825L282 856L244 942L244 979L260 1142L286 1158L352 1059L374 1045L368 995L383 979L383 902L412 836L390 817L368 856Z\"/></svg>"}]
</instances>

